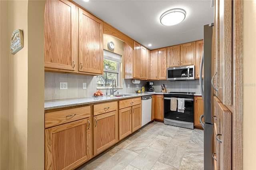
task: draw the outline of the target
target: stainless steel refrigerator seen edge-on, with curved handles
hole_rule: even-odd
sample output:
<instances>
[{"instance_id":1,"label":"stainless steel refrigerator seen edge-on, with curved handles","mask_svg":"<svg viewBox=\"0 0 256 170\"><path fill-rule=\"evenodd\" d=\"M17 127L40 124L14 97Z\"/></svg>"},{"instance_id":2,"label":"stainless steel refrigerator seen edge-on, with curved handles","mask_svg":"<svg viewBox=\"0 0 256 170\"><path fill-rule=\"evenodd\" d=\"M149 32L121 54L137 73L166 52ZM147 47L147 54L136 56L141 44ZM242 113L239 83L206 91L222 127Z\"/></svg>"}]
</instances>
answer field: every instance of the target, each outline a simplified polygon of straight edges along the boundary
<instances>
[{"instance_id":1,"label":"stainless steel refrigerator seen edge-on, with curved handles","mask_svg":"<svg viewBox=\"0 0 256 170\"><path fill-rule=\"evenodd\" d=\"M200 123L204 128L204 169L213 170L214 162L213 154L213 119L212 119L212 33L213 23L204 26L204 52L200 66L200 88L204 101L204 113L200 117ZM204 71L204 79L202 79L202 68ZM204 123L202 123L204 117Z\"/></svg>"}]
</instances>

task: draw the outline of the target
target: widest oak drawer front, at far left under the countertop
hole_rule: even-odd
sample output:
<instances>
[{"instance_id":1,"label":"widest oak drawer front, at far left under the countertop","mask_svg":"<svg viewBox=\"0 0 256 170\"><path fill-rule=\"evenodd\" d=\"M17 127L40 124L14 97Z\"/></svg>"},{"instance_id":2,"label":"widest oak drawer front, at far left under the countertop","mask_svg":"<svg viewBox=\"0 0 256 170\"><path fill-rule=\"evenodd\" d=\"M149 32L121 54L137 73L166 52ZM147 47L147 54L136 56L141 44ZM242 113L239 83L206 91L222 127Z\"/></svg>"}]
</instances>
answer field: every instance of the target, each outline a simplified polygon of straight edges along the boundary
<instances>
[{"instance_id":1,"label":"widest oak drawer front, at far left under the countertop","mask_svg":"<svg viewBox=\"0 0 256 170\"><path fill-rule=\"evenodd\" d=\"M77 121L80 119L85 119L87 117L90 117L90 113L91 113L90 106L45 113L44 125L45 125L45 128L48 128L48 127L53 127L53 126L61 125L61 124L72 122L72 121Z\"/></svg>"}]
</instances>

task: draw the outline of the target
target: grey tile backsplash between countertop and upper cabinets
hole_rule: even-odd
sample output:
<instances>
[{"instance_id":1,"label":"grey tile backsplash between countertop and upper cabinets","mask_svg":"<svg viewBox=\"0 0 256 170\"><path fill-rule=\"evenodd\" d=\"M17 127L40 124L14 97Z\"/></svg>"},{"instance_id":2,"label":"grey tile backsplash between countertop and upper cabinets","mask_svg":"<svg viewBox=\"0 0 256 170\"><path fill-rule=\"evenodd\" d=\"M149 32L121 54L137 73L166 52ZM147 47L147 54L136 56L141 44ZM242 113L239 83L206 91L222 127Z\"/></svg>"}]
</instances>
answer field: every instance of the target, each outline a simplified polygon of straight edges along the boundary
<instances>
[{"instance_id":1,"label":"grey tile backsplash between countertop and upper cabinets","mask_svg":"<svg viewBox=\"0 0 256 170\"><path fill-rule=\"evenodd\" d=\"M67 82L68 89L60 90L60 82ZM200 93L199 80L194 81L166 81L158 80L154 82L154 90L161 92L161 85L166 86L166 90L176 92L195 92ZM82 84L86 83L87 88L83 89ZM128 85L130 88L128 89ZM139 88L136 88L136 84L132 83L132 79L122 79L122 89L118 89L117 92L122 93L135 93L135 90L139 90L142 86L146 85L146 81L140 81ZM83 97L91 97L94 92L97 91L97 77L87 75L73 75L62 73L44 73L44 100L58 100L58 99L75 99ZM110 94L110 90L102 90L104 94Z\"/></svg>"}]
</instances>

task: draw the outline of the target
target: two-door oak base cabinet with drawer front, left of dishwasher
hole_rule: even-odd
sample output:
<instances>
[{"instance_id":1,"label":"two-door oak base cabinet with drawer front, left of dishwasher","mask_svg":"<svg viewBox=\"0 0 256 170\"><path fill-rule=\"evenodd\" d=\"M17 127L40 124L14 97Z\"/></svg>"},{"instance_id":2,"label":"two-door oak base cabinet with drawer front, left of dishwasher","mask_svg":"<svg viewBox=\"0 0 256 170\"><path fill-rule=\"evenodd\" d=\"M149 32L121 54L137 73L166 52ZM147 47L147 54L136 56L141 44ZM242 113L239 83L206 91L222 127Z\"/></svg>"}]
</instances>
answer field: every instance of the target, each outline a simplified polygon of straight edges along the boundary
<instances>
[{"instance_id":1,"label":"two-door oak base cabinet with drawer front, left of dishwasher","mask_svg":"<svg viewBox=\"0 0 256 170\"><path fill-rule=\"evenodd\" d=\"M141 128L141 99L119 101L119 140Z\"/></svg>"}]
</instances>

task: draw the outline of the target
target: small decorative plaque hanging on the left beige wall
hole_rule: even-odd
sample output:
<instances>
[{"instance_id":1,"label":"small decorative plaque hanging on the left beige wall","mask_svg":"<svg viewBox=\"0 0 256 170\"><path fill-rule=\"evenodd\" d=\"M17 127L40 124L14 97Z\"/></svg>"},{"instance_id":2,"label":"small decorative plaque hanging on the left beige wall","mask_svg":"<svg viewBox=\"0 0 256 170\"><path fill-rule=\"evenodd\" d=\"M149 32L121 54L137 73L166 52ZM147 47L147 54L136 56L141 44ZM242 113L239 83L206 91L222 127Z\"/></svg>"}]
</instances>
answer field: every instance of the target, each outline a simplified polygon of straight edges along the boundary
<instances>
[{"instance_id":1,"label":"small decorative plaque hanging on the left beige wall","mask_svg":"<svg viewBox=\"0 0 256 170\"><path fill-rule=\"evenodd\" d=\"M23 48L23 32L15 30L11 36L11 54L15 54Z\"/></svg>"}]
</instances>

